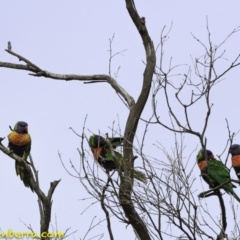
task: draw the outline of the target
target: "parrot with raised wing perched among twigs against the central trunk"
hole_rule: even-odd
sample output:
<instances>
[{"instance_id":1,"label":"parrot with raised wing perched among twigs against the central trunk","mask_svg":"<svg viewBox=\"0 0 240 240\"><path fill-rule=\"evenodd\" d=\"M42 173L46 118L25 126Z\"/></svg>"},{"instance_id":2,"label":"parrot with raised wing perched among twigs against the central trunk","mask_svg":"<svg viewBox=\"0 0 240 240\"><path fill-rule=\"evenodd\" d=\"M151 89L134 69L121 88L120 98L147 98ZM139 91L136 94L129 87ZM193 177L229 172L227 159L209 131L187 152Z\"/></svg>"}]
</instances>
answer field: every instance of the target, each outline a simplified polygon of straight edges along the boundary
<instances>
[{"instance_id":1,"label":"parrot with raised wing perched among twigs against the central trunk","mask_svg":"<svg viewBox=\"0 0 240 240\"><path fill-rule=\"evenodd\" d=\"M113 149L121 146L122 138L109 138L108 139ZM123 156L114 150L114 156L111 153L105 138L99 135L92 135L89 138L89 146L93 153L93 158L107 171L120 169L123 171ZM133 169L133 177L139 181L146 183L146 176L144 173Z\"/></svg>"}]
</instances>

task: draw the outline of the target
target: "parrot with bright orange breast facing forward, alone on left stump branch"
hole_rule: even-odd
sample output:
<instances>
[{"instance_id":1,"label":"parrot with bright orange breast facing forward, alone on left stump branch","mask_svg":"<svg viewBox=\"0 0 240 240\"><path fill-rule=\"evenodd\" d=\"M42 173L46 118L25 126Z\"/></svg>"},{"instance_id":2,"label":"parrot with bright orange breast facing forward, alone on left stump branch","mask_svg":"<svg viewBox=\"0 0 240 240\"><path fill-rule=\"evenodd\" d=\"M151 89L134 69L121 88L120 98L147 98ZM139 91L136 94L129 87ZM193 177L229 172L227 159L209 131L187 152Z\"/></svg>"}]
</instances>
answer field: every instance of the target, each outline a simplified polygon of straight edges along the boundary
<instances>
[{"instance_id":1,"label":"parrot with bright orange breast facing forward, alone on left stump branch","mask_svg":"<svg viewBox=\"0 0 240 240\"><path fill-rule=\"evenodd\" d=\"M27 158L31 150L31 137L28 134L28 124L23 121L17 122L13 131L8 135L8 141L9 149L27 162ZM24 185L26 187L30 187L33 191L29 182L29 174L31 174L31 172L25 169L23 164L18 161L15 161L15 168L17 176L20 175Z\"/></svg>"}]
</instances>

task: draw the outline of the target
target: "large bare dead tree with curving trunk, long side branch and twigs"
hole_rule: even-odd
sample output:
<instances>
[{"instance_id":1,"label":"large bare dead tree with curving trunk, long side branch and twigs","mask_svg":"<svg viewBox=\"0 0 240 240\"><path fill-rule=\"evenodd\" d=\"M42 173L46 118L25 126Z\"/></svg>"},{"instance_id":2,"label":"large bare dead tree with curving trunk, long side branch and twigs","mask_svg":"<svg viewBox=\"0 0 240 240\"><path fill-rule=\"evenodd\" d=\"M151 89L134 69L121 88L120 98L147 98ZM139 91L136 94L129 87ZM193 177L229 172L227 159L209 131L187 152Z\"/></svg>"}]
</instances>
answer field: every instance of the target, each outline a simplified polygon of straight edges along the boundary
<instances>
[{"instance_id":1,"label":"large bare dead tree with curving trunk, long side branch and twigs","mask_svg":"<svg viewBox=\"0 0 240 240\"><path fill-rule=\"evenodd\" d=\"M81 183L85 187L86 191L92 195L97 201L99 201L101 208L106 216L107 229L109 238L114 239L114 234L111 228L111 216L116 217L123 223L131 225L136 233L138 239L150 240L150 239L164 239L167 236L172 236L177 239L217 239L223 238L225 234L226 214L224 213L224 203L222 196L218 195L219 201L222 204L222 225L214 222L215 226L206 226L207 221L199 217L199 209L205 211L204 206L198 205L194 198L193 183L195 178L192 174L193 167L190 170L187 169L187 163L183 162L183 150L184 145L182 137L184 134L191 134L198 138L201 147L206 149L206 129L208 127L208 121L211 115L212 104L209 96L212 88L221 81L222 77L234 67L240 65L239 56L222 72L217 73L215 69L216 62L222 57L222 53L217 55L217 51L221 45L239 29L235 29L219 46L214 46L211 42L210 31L209 46L206 46L201 40L194 37L204 48L205 55L202 58L194 59L194 73L198 77L198 81L195 82L191 78L190 69L187 73L178 74L183 77L183 81L176 85L171 81L171 74L177 66L171 66L165 70L163 69L163 46L167 40L167 35L162 34L160 42L160 66L156 66L156 51L154 49L153 42L148 33L146 22L144 17L140 17L135 7L133 0L126 0L127 11L134 23L140 38L143 41L146 62L145 70L142 79L142 90L139 93L137 101L123 89L118 82L109 74L105 75L77 75L77 74L56 74L43 70L30 60L26 59L22 55L15 53L11 50L11 47L6 51L17 57L23 64L14 64L7 62L0 62L0 67L13 68L18 70L25 70L30 72L29 75L34 77L45 77L55 80L65 81L85 81L86 83L101 83L107 82L111 87L119 94L125 101L129 108L129 115L127 123L124 129L124 142L123 142L123 157L125 160L123 174L116 174L106 172L106 181L99 176L99 172L96 166L93 168L88 162L84 143L87 144L85 132L80 136L81 149L79 149L79 155L81 157L82 172L78 172L74 164L73 169ZM204 69L203 72L201 69ZM139 148L133 145L136 131L141 118L142 111L145 107L146 101L150 96L150 89L154 84L153 93L153 117L145 121L146 131L147 127L151 124L158 124L161 127L172 131L175 135L175 151L173 154L169 154L162 148L161 144L157 147L165 153L164 159L151 159L146 156L143 151L143 141ZM185 87L190 87L190 101L185 103L181 100L180 94ZM177 113L172 109L169 93L169 88L175 91L175 97L178 103L181 105L184 112L184 119L180 119ZM166 124L161 120L161 114L157 112L156 98L157 94L162 92L165 95L166 105L170 114L170 124ZM206 112L205 120L201 131L193 129L191 125L191 119L188 111L195 105L196 102L205 99ZM162 104L162 103L160 103ZM155 121L153 120L155 118ZM179 141L180 138L180 141ZM182 145L179 145L179 142ZM9 154L9 152L7 152ZM135 154L139 154L142 158L143 169L148 177L148 184L145 186L138 182L133 181L132 168L134 168ZM91 160L92 161L92 160ZM206 211L205 211L206 213ZM210 214L206 213L208 217ZM166 231L162 225L167 221L168 227L175 227L179 232L170 230ZM210 231L208 233L206 228ZM220 233L219 233L220 232Z\"/></svg>"}]
</instances>

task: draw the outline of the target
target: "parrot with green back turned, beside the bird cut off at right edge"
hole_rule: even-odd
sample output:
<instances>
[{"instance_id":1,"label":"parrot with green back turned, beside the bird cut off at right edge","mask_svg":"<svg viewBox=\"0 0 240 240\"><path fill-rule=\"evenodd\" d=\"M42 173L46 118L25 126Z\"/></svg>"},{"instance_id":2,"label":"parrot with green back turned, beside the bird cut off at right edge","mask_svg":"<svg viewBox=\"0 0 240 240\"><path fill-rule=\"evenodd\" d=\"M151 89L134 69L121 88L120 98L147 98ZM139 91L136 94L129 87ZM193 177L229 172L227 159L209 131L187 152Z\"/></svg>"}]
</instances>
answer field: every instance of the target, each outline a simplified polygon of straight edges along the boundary
<instances>
[{"instance_id":1,"label":"parrot with green back turned, beside the bird cut off at right edge","mask_svg":"<svg viewBox=\"0 0 240 240\"><path fill-rule=\"evenodd\" d=\"M203 150L198 152L197 159L200 159L201 154L203 154ZM210 188L215 188L230 180L229 170L221 161L218 161L214 158L210 159L210 161L206 161L204 172L207 175L207 181ZM236 186L229 182L224 184L221 188L225 190L226 193L231 194L238 202L240 202L240 198L233 191L234 187Z\"/></svg>"}]
</instances>

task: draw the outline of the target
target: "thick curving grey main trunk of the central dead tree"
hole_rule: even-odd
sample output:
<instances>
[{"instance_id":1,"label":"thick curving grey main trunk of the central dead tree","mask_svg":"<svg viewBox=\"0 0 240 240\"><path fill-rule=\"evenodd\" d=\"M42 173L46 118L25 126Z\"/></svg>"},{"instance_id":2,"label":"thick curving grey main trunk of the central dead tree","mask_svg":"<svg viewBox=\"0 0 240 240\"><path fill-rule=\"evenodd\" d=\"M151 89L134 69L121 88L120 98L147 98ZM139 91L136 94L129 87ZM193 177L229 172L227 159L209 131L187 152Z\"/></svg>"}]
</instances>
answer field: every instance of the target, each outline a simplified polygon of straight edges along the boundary
<instances>
[{"instance_id":1,"label":"thick curving grey main trunk of the central dead tree","mask_svg":"<svg viewBox=\"0 0 240 240\"><path fill-rule=\"evenodd\" d=\"M156 55L154 50L153 42L148 34L147 27L145 25L145 18L137 13L134 2L132 0L126 0L126 7L129 12L132 21L134 22L142 40L146 52L146 67L143 74L142 90L139 98L131 109L127 119L125 132L124 132L124 143L123 143L123 154L126 164L124 165L124 178L121 179L121 185L119 189L120 204L129 219L130 224L133 226L137 235L142 240L150 240L150 235L148 233L146 224L140 218L139 214L136 212L133 202L131 200L132 192L132 179L131 169L134 167L133 163L133 148L132 143L137 130L138 122L142 111L145 107L146 101L149 96L149 91L151 88L152 77L156 65Z\"/></svg>"}]
</instances>

